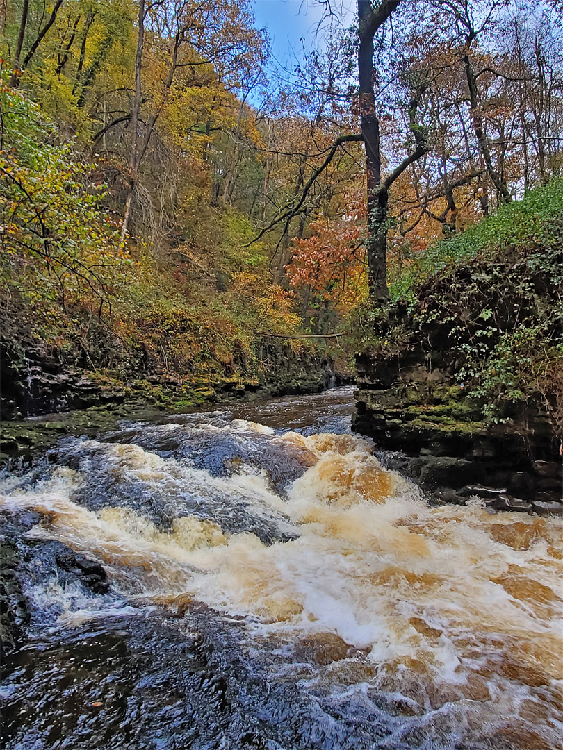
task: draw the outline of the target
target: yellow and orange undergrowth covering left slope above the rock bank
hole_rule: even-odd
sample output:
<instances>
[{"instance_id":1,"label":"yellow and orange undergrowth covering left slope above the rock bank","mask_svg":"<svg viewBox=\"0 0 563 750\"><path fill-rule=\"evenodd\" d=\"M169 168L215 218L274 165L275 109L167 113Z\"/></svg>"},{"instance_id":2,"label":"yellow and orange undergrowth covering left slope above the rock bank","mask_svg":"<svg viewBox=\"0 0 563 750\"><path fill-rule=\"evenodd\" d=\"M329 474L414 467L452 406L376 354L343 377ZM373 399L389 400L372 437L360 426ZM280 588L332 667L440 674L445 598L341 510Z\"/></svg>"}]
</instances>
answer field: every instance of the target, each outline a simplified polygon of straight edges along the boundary
<instances>
[{"instance_id":1,"label":"yellow and orange undergrowth covering left slope above the rock bank","mask_svg":"<svg viewBox=\"0 0 563 750\"><path fill-rule=\"evenodd\" d=\"M0 317L5 336L98 371L249 380L262 335L300 328L291 295L272 284L248 220L217 213L155 253L120 240L104 172L77 139L0 81ZM194 226L197 221L192 222ZM209 229L209 228L208 228ZM270 340L271 341L271 340ZM288 340L296 354L310 343Z\"/></svg>"}]
</instances>

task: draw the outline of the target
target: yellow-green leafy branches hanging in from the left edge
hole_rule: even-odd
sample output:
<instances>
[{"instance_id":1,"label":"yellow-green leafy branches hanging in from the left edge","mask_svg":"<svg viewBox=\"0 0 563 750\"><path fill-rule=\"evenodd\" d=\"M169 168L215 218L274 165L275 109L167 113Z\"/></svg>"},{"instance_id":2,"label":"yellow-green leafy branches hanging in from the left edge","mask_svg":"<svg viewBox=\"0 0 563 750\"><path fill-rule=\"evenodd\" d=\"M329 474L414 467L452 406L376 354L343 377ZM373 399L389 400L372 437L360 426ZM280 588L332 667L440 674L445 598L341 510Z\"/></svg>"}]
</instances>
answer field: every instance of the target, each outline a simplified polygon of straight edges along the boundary
<instances>
[{"instance_id":1,"label":"yellow-green leafy branches hanging in from the left edge","mask_svg":"<svg viewBox=\"0 0 563 750\"><path fill-rule=\"evenodd\" d=\"M117 227L101 210L105 186L89 180L90 165L72 145L43 142L44 123L23 95L3 87L0 112L2 278L24 297L86 305L96 314L111 306L130 263ZM18 271L18 269L20 269Z\"/></svg>"}]
</instances>

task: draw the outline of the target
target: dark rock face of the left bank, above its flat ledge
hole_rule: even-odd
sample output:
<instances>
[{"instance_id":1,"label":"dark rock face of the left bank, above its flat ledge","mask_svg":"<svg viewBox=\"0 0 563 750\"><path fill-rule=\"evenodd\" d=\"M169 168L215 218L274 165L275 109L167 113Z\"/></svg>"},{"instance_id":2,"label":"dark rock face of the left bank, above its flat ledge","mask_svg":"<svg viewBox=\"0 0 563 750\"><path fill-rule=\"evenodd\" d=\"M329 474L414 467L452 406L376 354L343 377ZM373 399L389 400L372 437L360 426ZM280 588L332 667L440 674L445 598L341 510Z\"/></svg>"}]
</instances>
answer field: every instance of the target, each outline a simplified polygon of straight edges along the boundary
<instances>
[{"instance_id":1,"label":"dark rock face of the left bank, above its flat ledge","mask_svg":"<svg viewBox=\"0 0 563 750\"><path fill-rule=\"evenodd\" d=\"M71 353L72 354L72 353ZM164 371L154 362L137 362L133 371L95 371L87 362L60 350L0 341L0 419L12 420L92 407L149 402L180 408L209 401L230 401L251 394L295 395L350 382L330 356L296 353L285 344L263 344L254 374L239 371L197 380ZM242 371L243 372L243 371Z\"/></svg>"}]
</instances>

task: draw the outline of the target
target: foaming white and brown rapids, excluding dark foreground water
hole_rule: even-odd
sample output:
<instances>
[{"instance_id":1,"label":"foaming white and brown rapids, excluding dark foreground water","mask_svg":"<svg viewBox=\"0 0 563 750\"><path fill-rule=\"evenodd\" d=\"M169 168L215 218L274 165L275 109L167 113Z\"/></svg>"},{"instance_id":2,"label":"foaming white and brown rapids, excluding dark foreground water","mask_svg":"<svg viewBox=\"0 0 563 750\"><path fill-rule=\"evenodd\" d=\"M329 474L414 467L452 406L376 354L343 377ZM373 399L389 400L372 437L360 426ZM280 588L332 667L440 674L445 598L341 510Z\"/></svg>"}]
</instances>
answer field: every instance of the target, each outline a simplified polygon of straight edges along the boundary
<instances>
[{"instance_id":1,"label":"foaming white and brown rapids, excluding dark foreground water","mask_svg":"<svg viewBox=\"0 0 563 750\"><path fill-rule=\"evenodd\" d=\"M102 562L118 594L104 608L56 582L34 589L58 601L56 627L197 601L242 622L249 654L278 655L265 659L270 679L343 704L386 696L396 728L373 747L561 747L560 520L490 514L477 500L432 508L351 434L201 416L137 432L84 440L74 466L3 483L5 509L41 514L30 538ZM176 449L214 434L245 446L228 471ZM285 487L272 481L281 460L297 477ZM148 500L128 505L131 488ZM232 508L252 523L221 520ZM260 541L260 523L277 538Z\"/></svg>"}]
</instances>

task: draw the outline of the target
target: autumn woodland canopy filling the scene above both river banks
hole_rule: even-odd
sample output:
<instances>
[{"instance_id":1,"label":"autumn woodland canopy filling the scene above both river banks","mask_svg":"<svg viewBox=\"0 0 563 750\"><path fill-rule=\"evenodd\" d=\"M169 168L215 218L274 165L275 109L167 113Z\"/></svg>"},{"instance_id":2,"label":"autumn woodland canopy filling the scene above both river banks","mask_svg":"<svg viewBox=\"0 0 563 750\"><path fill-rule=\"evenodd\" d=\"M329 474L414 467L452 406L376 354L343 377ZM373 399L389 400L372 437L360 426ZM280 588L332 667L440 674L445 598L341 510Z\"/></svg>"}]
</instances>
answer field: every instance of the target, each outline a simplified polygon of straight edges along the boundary
<instances>
[{"instance_id":1,"label":"autumn woodland canopy filling the scene above both river banks","mask_svg":"<svg viewBox=\"0 0 563 750\"><path fill-rule=\"evenodd\" d=\"M106 359L250 362L561 175L556 3L318 5L289 69L249 0L2 4L5 314L92 358L104 329Z\"/></svg>"}]
</instances>

